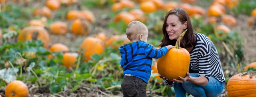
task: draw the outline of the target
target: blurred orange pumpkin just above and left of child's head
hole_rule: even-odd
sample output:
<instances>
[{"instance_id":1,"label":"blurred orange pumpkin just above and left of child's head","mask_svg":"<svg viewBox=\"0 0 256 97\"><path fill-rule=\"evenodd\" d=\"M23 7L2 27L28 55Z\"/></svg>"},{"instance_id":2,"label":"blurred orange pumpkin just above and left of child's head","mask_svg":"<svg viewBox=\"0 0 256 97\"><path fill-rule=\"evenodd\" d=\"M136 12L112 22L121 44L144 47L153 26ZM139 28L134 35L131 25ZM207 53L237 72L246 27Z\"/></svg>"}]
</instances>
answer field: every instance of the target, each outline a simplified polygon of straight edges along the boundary
<instances>
[{"instance_id":1,"label":"blurred orange pumpkin just above and left of child's head","mask_svg":"<svg viewBox=\"0 0 256 97\"><path fill-rule=\"evenodd\" d=\"M120 20L124 20L124 23L128 25L130 22L135 20L135 17L129 12L122 11L116 14L116 16L114 17L115 23L119 22Z\"/></svg>"}]
</instances>

